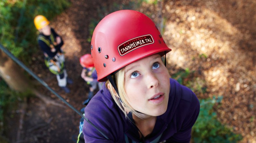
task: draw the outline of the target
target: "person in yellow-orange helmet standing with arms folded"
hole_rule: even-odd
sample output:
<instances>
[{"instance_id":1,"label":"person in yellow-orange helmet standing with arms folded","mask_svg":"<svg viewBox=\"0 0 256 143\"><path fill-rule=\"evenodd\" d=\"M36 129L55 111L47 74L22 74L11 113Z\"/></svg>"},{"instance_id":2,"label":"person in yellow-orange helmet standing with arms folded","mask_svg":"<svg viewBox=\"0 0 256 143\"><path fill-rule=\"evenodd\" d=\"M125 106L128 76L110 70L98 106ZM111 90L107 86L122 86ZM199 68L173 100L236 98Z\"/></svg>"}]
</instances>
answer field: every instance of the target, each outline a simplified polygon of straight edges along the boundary
<instances>
[{"instance_id":1,"label":"person in yellow-orange helmet standing with arms folded","mask_svg":"<svg viewBox=\"0 0 256 143\"><path fill-rule=\"evenodd\" d=\"M69 93L70 89L67 83L72 80L67 78L67 72L64 66L64 54L61 50L63 43L62 38L49 26L50 22L43 15L37 15L34 18L34 24L40 32L37 37L38 45L45 55L45 65L49 70L57 76L58 85Z\"/></svg>"}]
</instances>

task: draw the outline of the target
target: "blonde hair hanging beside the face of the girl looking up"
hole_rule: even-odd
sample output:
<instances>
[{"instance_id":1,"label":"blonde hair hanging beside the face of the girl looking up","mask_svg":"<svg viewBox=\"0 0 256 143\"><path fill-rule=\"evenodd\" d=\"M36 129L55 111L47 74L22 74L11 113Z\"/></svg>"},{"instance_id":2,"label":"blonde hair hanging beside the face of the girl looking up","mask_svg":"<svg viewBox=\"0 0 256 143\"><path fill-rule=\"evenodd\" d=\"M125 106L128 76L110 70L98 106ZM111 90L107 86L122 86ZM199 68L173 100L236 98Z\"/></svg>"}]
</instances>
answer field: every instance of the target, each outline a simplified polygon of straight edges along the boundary
<instances>
[{"instance_id":1,"label":"blonde hair hanging beside the face of the girl looking up","mask_svg":"<svg viewBox=\"0 0 256 143\"><path fill-rule=\"evenodd\" d=\"M125 68L122 68L113 76L115 77L114 79L117 85L119 96L117 95L117 92L115 91L114 87L111 85L109 80L106 81L105 85L109 89L115 103L118 105L121 111L125 114L126 118L127 118L128 112L132 112L137 117L142 118L142 116L128 102L128 98L124 89Z\"/></svg>"}]
</instances>

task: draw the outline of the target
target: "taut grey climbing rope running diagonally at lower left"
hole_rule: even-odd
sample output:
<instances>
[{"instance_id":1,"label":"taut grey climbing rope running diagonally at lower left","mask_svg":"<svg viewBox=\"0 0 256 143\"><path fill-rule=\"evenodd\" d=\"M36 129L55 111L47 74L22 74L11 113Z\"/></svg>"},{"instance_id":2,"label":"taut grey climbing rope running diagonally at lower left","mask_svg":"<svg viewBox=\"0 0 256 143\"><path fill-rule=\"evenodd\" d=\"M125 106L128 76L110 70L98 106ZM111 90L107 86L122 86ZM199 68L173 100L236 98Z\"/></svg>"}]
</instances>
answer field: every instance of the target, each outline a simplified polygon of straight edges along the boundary
<instances>
[{"instance_id":1,"label":"taut grey climbing rope running diagonally at lower left","mask_svg":"<svg viewBox=\"0 0 256 143\"><path fill-rule=\"evenodd\" d=\"M13 61L15 61L21 68L25 69L30 75L32 75L38 82L44 85L48 90L50 90L54 95L56 95L59 99L61 99L66 105L68 105L73 111L77 112L82 118L84 118L90 125L92 125L96 130L98 130L106 139L109 139L103 132L100 131L89 119L85 118L85 116L79 112L75 107L69 104L63 97L61 97L58 93L56 93L52 88L48 86L40 77L34 74L28 67L26 67L19 59L17 59L10 51L8 51L1 43L0 49L7 54Z\"/></svg>"}]
</instances>

